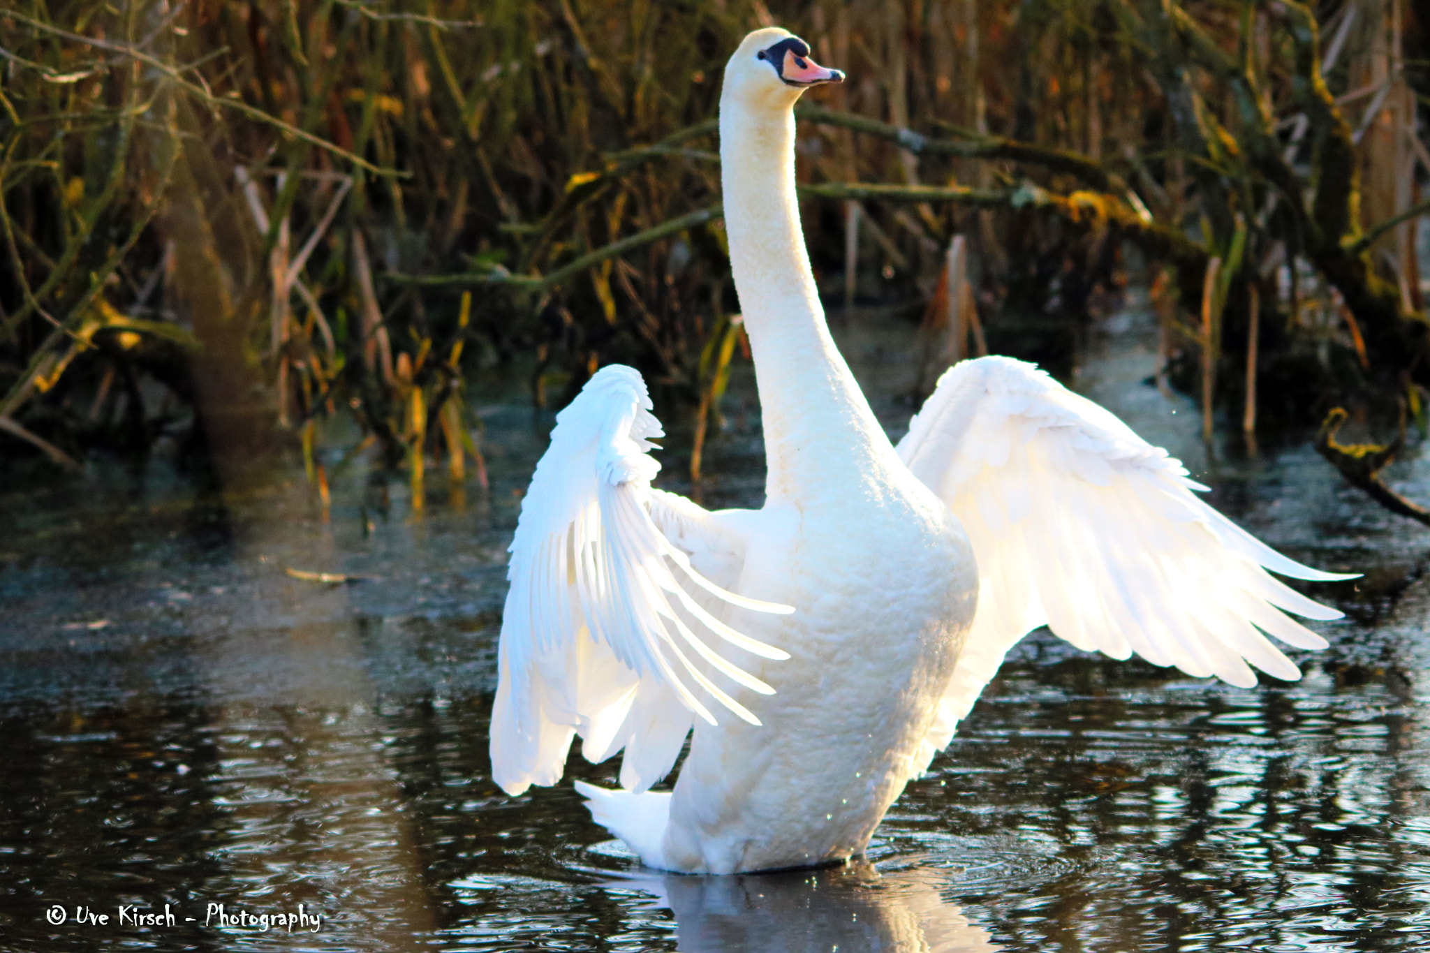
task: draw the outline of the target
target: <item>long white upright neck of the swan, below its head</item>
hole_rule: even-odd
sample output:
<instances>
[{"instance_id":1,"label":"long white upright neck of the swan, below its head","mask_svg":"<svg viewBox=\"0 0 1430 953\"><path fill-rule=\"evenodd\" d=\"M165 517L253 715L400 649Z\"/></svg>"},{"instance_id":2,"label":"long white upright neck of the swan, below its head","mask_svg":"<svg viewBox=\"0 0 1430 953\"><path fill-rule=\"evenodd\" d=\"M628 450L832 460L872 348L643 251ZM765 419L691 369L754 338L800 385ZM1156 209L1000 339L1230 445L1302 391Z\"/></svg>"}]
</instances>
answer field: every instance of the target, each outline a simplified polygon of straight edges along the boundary
<instances>
[{"instance_id":1,"label":"long white upright neck of the swan, below its head","mask_svg":"<svg viewBox=\"0 0 1430 953\"><path fill-rule=\"evenodd\" d=\"M849 373L809 270L795 201L795 119L721 103L725 229L755 359L769 497L861 484L897 463Z\"/></svg>"}]
</instances>

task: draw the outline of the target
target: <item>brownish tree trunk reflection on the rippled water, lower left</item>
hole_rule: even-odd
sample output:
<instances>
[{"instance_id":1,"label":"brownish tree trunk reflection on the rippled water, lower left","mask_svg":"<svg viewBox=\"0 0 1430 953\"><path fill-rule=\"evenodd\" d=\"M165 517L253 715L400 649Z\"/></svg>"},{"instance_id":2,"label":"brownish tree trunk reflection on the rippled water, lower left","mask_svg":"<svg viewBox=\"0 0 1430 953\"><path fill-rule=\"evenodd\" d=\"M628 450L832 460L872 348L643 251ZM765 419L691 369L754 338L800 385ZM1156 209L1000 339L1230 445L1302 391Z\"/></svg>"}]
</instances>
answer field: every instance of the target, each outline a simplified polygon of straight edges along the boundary
<instances>
[{"instance_id":1,"label":"brownish tree trunk reflection on the rippled water, lower left","mask_svg":"<svg viewBox=\"0 0 1430 953\"><path fill-rule=\"evenodd\" d=\"M242 559L273 552L286 536L282 523L259 522L242 534ZM309 559L332 564L329 546ZM289 590L283 609L319 617L352 614L342 587L317 593ZM423 886L422 859L413 850L402 813L396 772L382 746L373 709L378 694L356 664L356 646L330 624L293 624L269 643L262 667L285 673L283 704L259 709L233 702L214 710L219 744L214 787L225 792L235 840L246 849L225 853L223 893L245 896L255 910L320 912L388 950L415 950L435 923ZM249 669L242 657L250 639L207 644L200 672L220 699L242 697L226 684ZM219 886L219 884L214 884Z\"/></svg>"}]
</instances>

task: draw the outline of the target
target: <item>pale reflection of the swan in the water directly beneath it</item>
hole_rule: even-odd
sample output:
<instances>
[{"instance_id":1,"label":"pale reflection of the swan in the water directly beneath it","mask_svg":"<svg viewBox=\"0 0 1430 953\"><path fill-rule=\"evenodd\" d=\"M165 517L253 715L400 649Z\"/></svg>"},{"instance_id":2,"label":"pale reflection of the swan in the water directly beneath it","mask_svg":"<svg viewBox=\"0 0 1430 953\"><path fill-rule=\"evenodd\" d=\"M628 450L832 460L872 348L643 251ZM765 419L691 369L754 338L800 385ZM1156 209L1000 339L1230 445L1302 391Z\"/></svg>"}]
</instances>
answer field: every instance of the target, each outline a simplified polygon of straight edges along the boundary
<instances>
[{"instance_id":1,"label":"pale reflection of the swan in the water directly beneath it","mask_svg":"<svg viewBox=\"0 0 1430 953\"><path fill-rule=\"evenodd\" d=\"M947 872L881 873L867 860L788 873L664 874L639 889L675 913L681 953L841 950L995 953L988 932L940 896Z\"/></svg>"}]
</instances>

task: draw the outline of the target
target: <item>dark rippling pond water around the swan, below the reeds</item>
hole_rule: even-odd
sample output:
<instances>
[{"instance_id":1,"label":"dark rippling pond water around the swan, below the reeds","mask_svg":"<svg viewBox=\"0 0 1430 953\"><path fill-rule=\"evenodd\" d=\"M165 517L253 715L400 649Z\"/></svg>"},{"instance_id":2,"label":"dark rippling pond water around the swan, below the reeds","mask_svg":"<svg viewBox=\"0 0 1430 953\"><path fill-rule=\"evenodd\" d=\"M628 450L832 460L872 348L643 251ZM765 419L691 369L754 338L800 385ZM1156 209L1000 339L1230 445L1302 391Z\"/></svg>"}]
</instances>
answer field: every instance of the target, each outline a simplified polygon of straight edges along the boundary
<instances>
[{"instance_id":1,"label":"dark rippling pond water around the swan, below the reeds","mask_svg":"<svg viewBox=\"0 0 1430 953\"><path fill-rule=\"evenodd\" d=\"M662 877L568 783L508 799L489 780L503 550L549 417L483 409L490 493L458 507L436 479L422 519L360 463L329 523L300 473L227 494L162 461L11 479L0 947L1430 950L1430 533L1301 439L1208 461L1191 404L1141 383L1143 337L1114 319L1080 389L1273 544L1367 573L1316 590L1348 613L1313 623L1331 649L1293 653L1300 683L1241 690L1035 633L868 860L809 874ZM895 436L907 340L845 336ZM704 502L758 504L756 407L726 411ZM686 490L671 446L664 486ZM1430 497L1426 464L1396 477ZM615 770L578 756L568 777ZM117 923L120 904L176 923ZM265 932L217 904L323 919Z\"/></svg>"}]
</instances>

